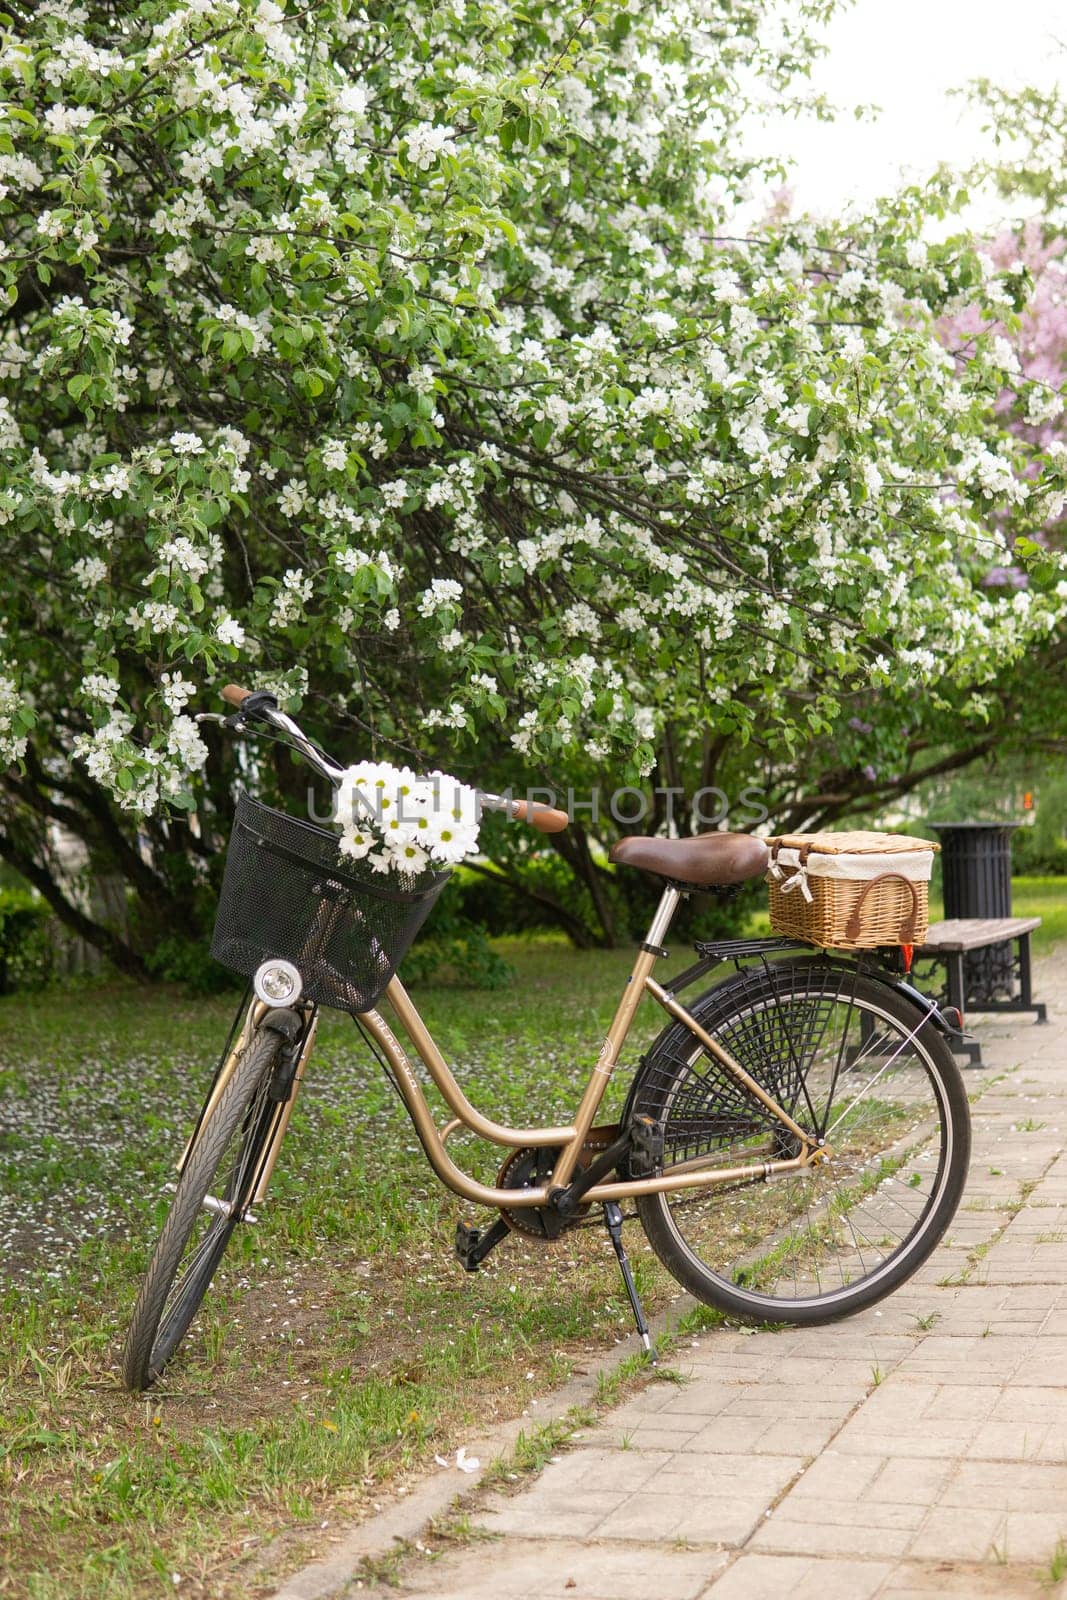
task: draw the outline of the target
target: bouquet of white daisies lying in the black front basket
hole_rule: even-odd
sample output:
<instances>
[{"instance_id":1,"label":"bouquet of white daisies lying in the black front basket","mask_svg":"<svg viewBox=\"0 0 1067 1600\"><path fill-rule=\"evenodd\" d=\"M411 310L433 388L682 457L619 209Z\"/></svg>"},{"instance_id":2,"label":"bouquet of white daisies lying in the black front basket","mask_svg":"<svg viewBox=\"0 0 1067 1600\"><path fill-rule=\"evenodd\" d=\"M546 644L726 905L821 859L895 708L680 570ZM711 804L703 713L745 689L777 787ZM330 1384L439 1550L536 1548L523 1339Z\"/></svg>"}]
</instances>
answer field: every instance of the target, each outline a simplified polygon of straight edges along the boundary
<instances>
[{"instance_id":1,"label":"bouquet of white daisies lying in the black front basket","mask_svg":"<svg viewBox=\"0 0 1067 1600\"><path fill-rule=\"evenodd\" d=\"M448 773L360 762L338 787L338 848L374 872L442 870L475 854L478 814L477 792Z\"/></svg>"}]
</instances>

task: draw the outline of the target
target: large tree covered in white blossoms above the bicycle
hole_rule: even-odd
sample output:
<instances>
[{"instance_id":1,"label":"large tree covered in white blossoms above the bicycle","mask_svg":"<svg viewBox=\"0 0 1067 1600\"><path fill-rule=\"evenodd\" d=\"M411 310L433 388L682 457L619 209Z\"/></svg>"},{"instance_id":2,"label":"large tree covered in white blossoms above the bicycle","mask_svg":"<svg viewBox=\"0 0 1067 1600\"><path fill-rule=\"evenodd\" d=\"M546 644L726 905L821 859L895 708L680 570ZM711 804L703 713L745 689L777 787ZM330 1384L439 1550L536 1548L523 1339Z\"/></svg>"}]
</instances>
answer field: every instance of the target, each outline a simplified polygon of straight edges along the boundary
<instances>
[{"instance_id":1,"label":"large tree covered in white blossoms above the bicycle","mask_svg":"<svg viewBox=\"0 0 1067 1600\"><path fill-rule=\"evenodd\" d=\"M982 586L1062 502L995 410L1025 272L926 246L933 189L737 226L830 10L8 8L10 861L62 821L173 899L227 675L354 755L633 778L1046 645L1057 570Z\"/></svg>"}]
</instances>

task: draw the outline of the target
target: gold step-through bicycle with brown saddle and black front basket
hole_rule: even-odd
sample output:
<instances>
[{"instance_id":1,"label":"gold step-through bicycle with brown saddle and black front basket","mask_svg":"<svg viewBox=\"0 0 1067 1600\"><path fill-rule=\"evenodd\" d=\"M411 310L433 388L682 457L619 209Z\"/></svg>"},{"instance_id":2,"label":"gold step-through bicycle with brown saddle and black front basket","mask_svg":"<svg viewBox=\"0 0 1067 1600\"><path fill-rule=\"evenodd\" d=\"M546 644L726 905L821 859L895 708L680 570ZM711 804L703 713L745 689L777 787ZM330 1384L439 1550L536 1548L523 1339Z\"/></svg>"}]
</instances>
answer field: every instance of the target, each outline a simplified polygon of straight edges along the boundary
<instances>
[{"instance_id":1,"label":"gold step-through bicycle with brown saddle and black front basket","mask_svg":"<svg viewBox=\"0 0 1067 1600\"><path fill-rule=\"evenodd\" d=\"M344 768L267 693L222 691L235 733L270 731L334 787ZM501 795L541 832L566 813ZM633 1203L653 1251L697 1299L734 1317L811 1325L862 1310L910 1277L949 1226L968 1170L968 1099L953 1021L878 952L830 955L790 939L718 939L667 984L653 978L681 896L763 874L750 835L635 838L611 859L662 882L648 936L569 1123L509 1128L470 1104L397 966L448 874L403 888L342 861L338 837L240 795L213 952L251 978L179 1165L123 1350L123 1379L155 1382L200 1307L235 1229L264 1202L312 1053L320 1005L349 1011L398 1091L434 1171L499 1214L456 1229L477 1270L518 1230L544 1243L603 1208L643 1346L648 1323L622 1243ZM685 1006L678 994L728 974ZM643 995L667 1022L638 1061L617 1123L597 1125ZM437 1126L381 998L451 1117ZM960 1019L961 1021L961 1019ZM448 1141L506 1149L496 1184L466 1174Z\"/></svg>"}]
</instances>

